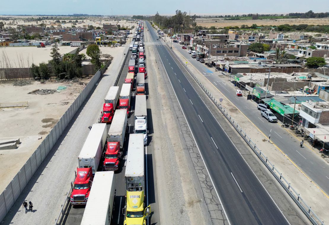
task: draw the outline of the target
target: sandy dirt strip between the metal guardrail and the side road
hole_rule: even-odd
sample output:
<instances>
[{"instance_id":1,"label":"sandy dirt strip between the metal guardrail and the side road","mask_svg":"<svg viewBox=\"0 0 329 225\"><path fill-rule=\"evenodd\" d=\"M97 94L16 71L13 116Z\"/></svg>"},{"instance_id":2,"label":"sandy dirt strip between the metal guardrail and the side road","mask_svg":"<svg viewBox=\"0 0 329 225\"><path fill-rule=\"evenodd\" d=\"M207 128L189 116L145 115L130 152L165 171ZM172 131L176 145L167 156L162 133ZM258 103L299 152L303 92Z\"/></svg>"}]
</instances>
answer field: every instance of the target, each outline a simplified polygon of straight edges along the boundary
<instances>
[{"instance_id":1,"label":"sandy dirt strip between the metal guardrail and the side road","mask_svg":"<svg viewBox=\"0 0 329 225\"><path fill-rule=\"evenodd\" d=\"M181 58L185 57L173 48ZM268 142L263 133L255 127L210 81L208 81L193 65L189 68L203 85L219 100L224 98L222 106L227 110L246 134L253 139L258 148L268 157L275 167L282 172L282 175L291 182L291 186L300 193L300 196L307 202L316 214L324 221L329 221L329 215L323 208L329 207L329 199L280 149ZM215 74L215 73L214 73ZM252 150L249 148L250 152ZM254 154L252 152L252 154Z\"/></svg>"}]
</instances>

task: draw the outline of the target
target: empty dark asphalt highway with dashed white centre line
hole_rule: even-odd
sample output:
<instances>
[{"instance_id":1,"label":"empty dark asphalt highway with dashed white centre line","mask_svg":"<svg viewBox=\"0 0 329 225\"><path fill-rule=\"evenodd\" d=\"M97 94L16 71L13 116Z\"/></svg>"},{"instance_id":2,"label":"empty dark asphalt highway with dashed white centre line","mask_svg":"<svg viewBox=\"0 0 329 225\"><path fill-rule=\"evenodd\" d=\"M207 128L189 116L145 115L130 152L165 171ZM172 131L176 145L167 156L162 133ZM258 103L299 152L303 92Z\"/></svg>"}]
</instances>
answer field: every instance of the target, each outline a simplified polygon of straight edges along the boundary
<instances>
[{"instance_id":1,"label":"empty dark asphalt highway with dashed white centre line","mask_svg":"<svg viewBox=\"0 0 329 225\"><path fill-rule=\"evenodd\" d=\"M146 22L230 224L289 224ZM185 72L185 71L184 71Z\"/></svg>"}]
</instances>

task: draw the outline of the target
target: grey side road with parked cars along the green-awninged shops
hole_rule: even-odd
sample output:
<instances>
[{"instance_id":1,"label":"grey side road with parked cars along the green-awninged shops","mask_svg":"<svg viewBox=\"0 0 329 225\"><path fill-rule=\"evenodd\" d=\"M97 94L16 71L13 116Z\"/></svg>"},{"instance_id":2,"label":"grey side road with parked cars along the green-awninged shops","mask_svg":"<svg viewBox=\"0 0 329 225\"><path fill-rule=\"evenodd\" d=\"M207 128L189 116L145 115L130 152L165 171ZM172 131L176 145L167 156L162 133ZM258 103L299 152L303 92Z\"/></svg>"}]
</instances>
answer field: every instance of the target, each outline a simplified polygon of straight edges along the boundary
<instances>
[{"instance_id":1,"label":"grey side road with parked cars along the green-awninged shops","mask_svg":"<svg viewBox=\"0 0 329 225\"><path fill-rule=\"evenodd\" d=\"M252 123L268 137L270 130L271 141L284 152L312 181L314 181L327 195L329 194L329 179L326 177L329 172L329 164L318 157L307 145L299 147L300 139L293 137L291 133L282 128L278 123L268 123L260 116L257 110L257 103L247 101L245 97L236 96L236 88L227 78L215 75L204 63L200 63L191 58L187 50L182 49L182 45L172 43L177 50L191 63L201 74L204 74L220 92L229 99ZM224 99L225 101L225 99ZM266 137L265 137L266 138ZM328 197L328 196L327 196Z\"/></svg>"}]
</instances>

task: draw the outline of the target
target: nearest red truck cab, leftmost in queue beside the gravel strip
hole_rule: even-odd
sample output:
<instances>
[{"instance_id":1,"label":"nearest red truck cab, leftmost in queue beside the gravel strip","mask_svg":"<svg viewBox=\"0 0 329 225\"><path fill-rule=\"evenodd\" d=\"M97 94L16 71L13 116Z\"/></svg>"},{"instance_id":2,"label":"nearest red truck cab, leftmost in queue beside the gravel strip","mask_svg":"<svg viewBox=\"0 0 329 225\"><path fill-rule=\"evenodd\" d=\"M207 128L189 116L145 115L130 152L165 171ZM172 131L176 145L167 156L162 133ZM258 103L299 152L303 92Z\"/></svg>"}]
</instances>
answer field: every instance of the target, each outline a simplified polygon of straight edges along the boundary
<instances>
[{"instance_id":1,"label":"nearest red truck cab, leftmost in queue beside the gravel strip","mask_svg":"<svg viewBox=\"0 0 329 225\"><path fill-rule=\"evenodd\" d=\"M70 203L72 205L86 205L92 183L92 170L89 168L77 168L77 176L71 183L72 193Z\"/></svg>"}]
</instances>

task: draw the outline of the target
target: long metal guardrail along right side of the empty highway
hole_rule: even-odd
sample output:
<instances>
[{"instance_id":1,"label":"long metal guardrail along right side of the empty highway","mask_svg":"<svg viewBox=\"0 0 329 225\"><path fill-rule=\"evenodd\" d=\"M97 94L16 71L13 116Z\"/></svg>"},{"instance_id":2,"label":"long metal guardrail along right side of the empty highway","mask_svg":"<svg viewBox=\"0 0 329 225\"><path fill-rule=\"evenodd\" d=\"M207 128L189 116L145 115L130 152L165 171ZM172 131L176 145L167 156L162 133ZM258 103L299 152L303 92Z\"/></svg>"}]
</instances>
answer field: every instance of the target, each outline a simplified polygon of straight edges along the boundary
<instances>
[{"instance_id":1,"label":"long metal guardrail along right side of the empty highway","mask_svg":"<svg viewBox=\"0 0 329 225\"><path fill-rule=\"evenodd\" d=\"M308 206L305 200L298 194L298 192L290 185L282 173L274 167L266 155L262 153L262 150L259 149L256 144L247 136L247 134L242 130L238 123L236 123L231 115L221 106L220 103L217 102L215 97L210 93L210 91L201 83L201 81L192 73L190 68L177 56L177 54L170 48L168 44L166 44L171 52L176 56L180 63L187 69L190 75L194 78L194 80L198 83L198 85L204 90L204 92L211 98L211 100L215 103L217 108L223 113L223 115L229 120L229 122L233 125L233 127L239 132L241 137L245 140L245 142L251 147L253 152L258 156L258 158L264 163L266 168L272 173L275 179L281 184L281 186L286 190L291 199L297 204L297 206L302 210L302 212L309 218L312 224L315 225L324 225L324 222L316 215L316 213Z\"/></svg>"}]
</instances>

